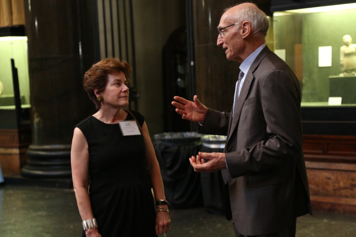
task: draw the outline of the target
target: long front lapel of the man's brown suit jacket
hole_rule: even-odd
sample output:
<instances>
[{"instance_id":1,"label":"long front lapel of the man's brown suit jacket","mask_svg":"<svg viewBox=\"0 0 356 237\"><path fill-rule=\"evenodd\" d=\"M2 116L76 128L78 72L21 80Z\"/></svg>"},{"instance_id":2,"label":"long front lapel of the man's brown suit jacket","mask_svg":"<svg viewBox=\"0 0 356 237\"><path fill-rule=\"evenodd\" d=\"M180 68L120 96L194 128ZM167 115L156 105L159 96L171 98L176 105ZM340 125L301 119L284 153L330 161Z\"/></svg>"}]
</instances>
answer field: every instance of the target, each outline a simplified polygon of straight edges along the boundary
<instances>
[{"instance_id":1,"label":"long front lapel of the man's brown suit jacket","mask_svg":"<svg viewBox=\"0 0 356 237\"><path fill-rule=\"evenodd\" d=\"M251 83L252 83L253 79L255 78L253 76L253 72L255 72L255 70L258 68L258 65L260 65L262 59L265 58L265 56L269 52L271 52L271 50L269 50L269 48L267 46L265 48L263 48L261 53L257 55L255 61L253 61L252 65L250 66L250 69L248 69L244 84L242 84L241 92L239 95L239 100L237 101L237 105L234 110L234 116L232 117L232 121L230 121L230 123L229 123L229 129L227 130L226 144L229 142L231 134L233 133L233 131L236 128L237 123L239 122L242 107L244 107L246 97L248 95L248 92L250 91ZM225 146L225 148L226 148L226 146Z\"/></svg>"}]
</instances>

